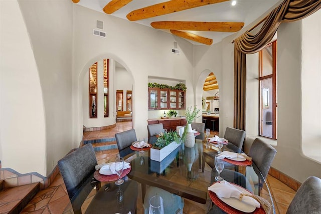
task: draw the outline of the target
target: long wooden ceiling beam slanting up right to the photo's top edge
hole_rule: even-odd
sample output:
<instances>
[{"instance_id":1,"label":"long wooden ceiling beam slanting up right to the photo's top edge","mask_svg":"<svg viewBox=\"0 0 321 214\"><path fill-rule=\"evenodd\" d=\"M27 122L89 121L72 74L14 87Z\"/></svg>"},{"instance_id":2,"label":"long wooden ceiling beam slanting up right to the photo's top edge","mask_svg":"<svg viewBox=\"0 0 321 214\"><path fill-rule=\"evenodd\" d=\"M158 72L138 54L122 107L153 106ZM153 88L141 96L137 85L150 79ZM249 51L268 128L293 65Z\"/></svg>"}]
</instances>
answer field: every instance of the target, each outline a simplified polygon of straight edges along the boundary
<instances>
[{"instance_id":1,"label":"long wooden ceiling beam slanting up right to the photo's top edge","mask_svg":"<svg viewBox=\"0 0 321 214\"><path fill-rule=\"evenodd\" d=\"M129 21L143 20L226 1L228 0L172 0L134 10L127 14L127 19Z\"/></svg>"}]
</instances>

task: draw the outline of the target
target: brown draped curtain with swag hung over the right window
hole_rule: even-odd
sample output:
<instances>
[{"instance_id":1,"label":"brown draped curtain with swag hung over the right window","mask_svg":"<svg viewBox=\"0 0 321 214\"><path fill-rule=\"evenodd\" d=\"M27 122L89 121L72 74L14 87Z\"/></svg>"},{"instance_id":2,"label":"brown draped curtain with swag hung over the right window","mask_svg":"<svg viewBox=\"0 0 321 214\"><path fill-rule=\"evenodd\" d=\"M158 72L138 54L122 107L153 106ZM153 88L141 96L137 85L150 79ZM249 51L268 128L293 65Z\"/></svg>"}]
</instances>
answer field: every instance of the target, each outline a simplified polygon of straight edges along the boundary
<instances>
[{"instance_id":1,"label":"brown draped curtain with swag hung over the right window","mask_svg":"<svg viewBox=\"0 0 321 214\"><path fill-rule=\"evenodd\" d=\"M234 40L234 128L246 130L246 54L262 50L281 22L304 19L321 8L320 0L284 0L265 19L256 34L246 31Z\"/></svg>"}]
</instances>

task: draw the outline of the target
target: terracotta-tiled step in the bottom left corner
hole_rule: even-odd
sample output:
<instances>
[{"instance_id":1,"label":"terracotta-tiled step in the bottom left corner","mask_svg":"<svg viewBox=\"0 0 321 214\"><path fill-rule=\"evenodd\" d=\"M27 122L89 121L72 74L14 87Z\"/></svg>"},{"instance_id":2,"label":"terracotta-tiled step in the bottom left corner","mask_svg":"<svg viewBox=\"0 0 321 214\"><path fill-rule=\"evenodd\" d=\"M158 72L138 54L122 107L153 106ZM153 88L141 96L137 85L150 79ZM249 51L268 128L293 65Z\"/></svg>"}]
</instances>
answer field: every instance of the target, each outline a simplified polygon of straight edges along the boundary
<instances>
[{"instance_id":1,"label":"terracotta-tiled step in the bottom left corner","mask_svg":"<svg viewBox=\"0 0 321 214\"><path fill-rule=\"evenodd\" d=\"M21 195L24 188L28 188L29 191L26 193L26 195ZM4 197L5 195L11 195L9 196L12 198L12 194L17 195L17 192L20 193L19 196L21 199L17 199L16 202L8 201L8 205L0 206L0 213L3 213L5 210L2 210L2 207L8 209L10 205L12 205L12 208L10 210L7 210L5 213L13 213L13 214L19 214L23 208L34 198L34 196L40 191L40 183L31 183L27 185L21 185L16 187L11 187L5 190L2 190L0 192L0 197ZM2 202L6 203L6 197L2 199ZM17 196L16 196L17 198ZM9 211L9 212L8 212Z\"/></svg>"}]
</instances>

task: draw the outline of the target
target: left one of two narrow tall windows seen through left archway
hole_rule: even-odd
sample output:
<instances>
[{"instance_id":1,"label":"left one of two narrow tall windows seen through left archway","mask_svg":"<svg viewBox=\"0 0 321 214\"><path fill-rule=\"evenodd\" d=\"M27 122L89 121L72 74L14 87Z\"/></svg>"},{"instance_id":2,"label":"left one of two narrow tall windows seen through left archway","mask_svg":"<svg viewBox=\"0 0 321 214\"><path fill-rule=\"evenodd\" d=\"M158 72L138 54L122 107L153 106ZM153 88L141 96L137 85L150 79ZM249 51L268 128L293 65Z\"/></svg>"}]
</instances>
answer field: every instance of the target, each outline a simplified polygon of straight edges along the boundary
<instances>
[{"instance_id":1,"label":"left one of two narrow tall windows seen through left archway","mask_svg":"<svg viewBox=\"0 0 321 214\"><path fill-rule=\"evenodd\" d=\"M97 117L97 62L89 68L89 117Z\"/></svg>"}]
</instances>

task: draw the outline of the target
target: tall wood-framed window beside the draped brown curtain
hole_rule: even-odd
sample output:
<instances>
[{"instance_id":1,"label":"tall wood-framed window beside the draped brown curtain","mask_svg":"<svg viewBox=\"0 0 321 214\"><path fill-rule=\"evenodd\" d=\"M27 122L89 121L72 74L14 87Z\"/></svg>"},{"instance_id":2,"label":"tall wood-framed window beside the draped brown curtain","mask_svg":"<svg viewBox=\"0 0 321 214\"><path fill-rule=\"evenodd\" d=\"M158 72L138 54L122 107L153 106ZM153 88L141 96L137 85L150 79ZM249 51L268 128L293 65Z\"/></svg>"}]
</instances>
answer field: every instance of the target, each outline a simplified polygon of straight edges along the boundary
<instances>
[{"instance_id":1,"label":"tall wood-framed window beside the draped brown curtain","mask_svg":"<svg viewBox=\"0 0 321 214\"><path fill-rule=\"evenodd\" d=\"M259 134L276 139L277 95L276 95L276 41L259 52Z\"/></svg>"}]
</instances>

